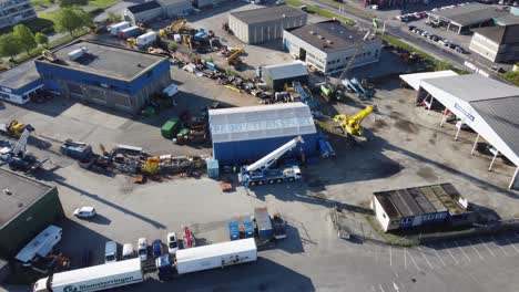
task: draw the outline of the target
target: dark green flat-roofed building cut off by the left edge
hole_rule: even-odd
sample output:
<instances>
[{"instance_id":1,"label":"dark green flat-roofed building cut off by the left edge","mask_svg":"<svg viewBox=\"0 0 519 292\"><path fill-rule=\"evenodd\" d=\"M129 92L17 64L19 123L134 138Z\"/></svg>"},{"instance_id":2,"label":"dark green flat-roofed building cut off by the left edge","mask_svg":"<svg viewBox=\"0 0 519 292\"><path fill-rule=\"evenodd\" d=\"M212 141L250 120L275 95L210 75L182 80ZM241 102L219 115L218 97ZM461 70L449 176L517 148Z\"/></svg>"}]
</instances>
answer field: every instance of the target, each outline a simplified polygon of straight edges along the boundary
<instances>
[{"instance_id":1,"label":"dark green flat-roofed building cut off by the left edge","mask_svg":"<svg viewBox=\"0 0 519 292\"><path fill-rule=\"evenodd\" d=\"M0 169L0 257L11 258L64 217L58 189Z\"/></svg>"}]
</instances>

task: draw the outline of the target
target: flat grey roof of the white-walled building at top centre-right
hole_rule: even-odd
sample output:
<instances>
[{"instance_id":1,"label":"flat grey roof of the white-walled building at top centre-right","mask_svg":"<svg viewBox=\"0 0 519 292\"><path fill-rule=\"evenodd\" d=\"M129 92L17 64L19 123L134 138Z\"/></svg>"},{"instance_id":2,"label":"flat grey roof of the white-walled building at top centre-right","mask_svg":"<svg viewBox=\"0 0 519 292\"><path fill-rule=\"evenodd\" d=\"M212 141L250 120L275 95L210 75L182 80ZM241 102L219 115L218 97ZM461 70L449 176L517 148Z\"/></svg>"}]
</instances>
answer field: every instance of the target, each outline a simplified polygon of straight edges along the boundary
<instances>
[{"instance_id":1,"label":"flat grey roof of the white-walled building at top centre-right","mask_svg":"<svg viewBox=\"0 0 519 292\"><path fill-rule=\"evenodd\" d=\"M333 53L360 45L366 32L346 28L339 21L324 21L287 30L313 46Z\"/></svg>"}]
</instances>

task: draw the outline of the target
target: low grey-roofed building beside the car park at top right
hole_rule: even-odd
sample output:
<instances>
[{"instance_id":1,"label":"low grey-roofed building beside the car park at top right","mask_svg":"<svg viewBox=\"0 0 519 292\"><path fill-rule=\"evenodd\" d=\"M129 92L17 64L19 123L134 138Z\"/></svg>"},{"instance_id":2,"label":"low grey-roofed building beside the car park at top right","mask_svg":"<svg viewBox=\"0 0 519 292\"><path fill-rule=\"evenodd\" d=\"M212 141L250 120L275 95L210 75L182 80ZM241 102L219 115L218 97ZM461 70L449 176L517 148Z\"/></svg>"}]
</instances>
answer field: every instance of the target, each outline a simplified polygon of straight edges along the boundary
<instances>
[{"instance_id":1,"label":"low grey-roofed building beside the car park at top right","mask_svg":"<svg viewBox=\"0 0 519 292\"><path fill-rule=\"evenodd\" d=\"M447 30L458 34L469 32L474 28L493 25L493 19L507 15L508 12L493 6L470 3L438 11L430 11L428 20L439 20Z\"/></svg>"}]
</instances>

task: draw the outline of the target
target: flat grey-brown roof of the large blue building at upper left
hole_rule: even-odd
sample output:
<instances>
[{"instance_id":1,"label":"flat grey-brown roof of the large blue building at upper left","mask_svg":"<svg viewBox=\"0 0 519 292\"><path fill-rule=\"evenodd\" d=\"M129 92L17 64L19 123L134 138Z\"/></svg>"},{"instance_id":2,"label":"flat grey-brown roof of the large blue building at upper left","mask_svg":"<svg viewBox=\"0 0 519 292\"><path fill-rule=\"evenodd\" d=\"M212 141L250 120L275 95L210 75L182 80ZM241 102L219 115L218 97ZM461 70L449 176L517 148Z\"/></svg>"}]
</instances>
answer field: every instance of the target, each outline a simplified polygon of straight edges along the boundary
<instances>
[{"instance_id":1,"label":"flat grey-brown roof of the large blue building at upper left","mask_svg":"<svg viewBox=\"0 0 519 292\"><path fill-rule=\"evenodd\" d=\"M68 53L81 48L86 49L88 53L70 61ZM58 58L57 61L51 62L39 58L37 62L123 81L131 81L167 59L166 56L83 40L62 46L53 53Z\"/></svg>"}]
</instances>

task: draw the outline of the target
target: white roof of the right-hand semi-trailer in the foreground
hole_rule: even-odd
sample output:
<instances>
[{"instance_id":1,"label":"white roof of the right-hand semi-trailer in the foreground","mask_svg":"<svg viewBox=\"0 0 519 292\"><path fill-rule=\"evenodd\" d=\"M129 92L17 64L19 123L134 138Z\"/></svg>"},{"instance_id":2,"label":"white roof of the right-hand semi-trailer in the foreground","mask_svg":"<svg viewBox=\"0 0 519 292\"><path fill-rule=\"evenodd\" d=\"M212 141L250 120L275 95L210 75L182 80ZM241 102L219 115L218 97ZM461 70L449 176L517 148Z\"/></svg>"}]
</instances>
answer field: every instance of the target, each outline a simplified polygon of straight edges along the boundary
<instances>
[{"instance_id":1,"label":"white roof of the right-hand semi-trailer in the foreground","mask_svg":"<svg viewBox=\"0 0 519 292\"><path fill-rule=\"evenodd\" d=\"M197 259L212 258L235 252L256 250L254 238L226 241L211 246L182 249L176 251L176 262L194 261Z\"/></svg>"}]
</instances>

